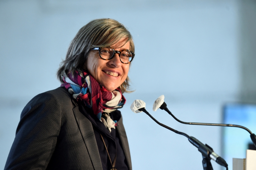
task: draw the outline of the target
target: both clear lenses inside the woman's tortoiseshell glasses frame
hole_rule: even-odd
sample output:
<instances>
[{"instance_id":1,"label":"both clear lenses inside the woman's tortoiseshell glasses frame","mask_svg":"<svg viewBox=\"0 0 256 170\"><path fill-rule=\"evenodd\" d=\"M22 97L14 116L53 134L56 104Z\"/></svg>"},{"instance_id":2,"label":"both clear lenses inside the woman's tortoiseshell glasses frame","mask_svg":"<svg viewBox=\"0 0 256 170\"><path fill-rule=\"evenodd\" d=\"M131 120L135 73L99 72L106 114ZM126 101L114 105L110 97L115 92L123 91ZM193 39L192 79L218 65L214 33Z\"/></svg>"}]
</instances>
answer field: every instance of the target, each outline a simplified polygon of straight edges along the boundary
<instances>
[{"instance_id":1,"label":"both clear lenses inside the woman's tortoiseshell glasses frame","mask_svg":"<svg viewBox=\"0 0 256 170\"><path fill-rule=\"evenodd\" d=\"M132 60L132 53L129 50L120 51L120 59L123 63L129 63ZM100 56L104 59L110 59L114 55L114 50L110 47L104 47L100 50Z\"/></svg>"}]
</instances>

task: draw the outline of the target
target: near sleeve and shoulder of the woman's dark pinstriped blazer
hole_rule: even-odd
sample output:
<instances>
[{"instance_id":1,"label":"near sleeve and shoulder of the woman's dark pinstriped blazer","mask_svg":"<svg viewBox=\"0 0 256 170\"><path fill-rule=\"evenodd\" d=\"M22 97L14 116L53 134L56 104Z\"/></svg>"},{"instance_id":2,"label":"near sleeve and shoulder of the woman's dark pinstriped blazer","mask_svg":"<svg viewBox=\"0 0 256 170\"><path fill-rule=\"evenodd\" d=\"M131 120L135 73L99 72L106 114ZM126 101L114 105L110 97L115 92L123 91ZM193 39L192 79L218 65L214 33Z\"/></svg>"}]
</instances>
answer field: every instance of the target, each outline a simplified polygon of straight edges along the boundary
<instances>
[{"instance_id":1,"label":"near sleeve and shoulder of the woman's dark pinstriped blazer","mask_svg":"<svg viewBox=\"0 0 256 170\"><path fill-rule=\"evenodd\" d=\"M24 107L4 169L46 169L71 103L65 88L36 95ZM66 114L67 115L67 114Z\"/></svg>"}]
</instances>

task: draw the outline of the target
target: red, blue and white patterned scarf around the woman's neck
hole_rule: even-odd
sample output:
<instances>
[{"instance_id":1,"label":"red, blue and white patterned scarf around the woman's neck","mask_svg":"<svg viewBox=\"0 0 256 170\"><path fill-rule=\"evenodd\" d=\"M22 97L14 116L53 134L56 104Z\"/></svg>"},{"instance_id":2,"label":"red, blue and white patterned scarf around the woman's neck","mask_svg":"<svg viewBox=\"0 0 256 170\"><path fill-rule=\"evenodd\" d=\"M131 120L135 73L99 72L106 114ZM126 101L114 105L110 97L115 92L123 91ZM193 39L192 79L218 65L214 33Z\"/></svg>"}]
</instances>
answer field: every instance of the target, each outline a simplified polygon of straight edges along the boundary
<instances>
[{"instance_id":1,"label":"red, blue and white patterned scarf around the woman's neck","mask_svg":"<svg viewBox=\"0 0 256 170\"><path fill-rule=\"evenodd\" d=\"M110 118L109 113L125 104L126 100L120 88L109 92L86 71L81 75L75 71L74 77L68 74L68 77L63 77L63 81L61 86L64 86L74 99L83 101L87 107L92 108L94 115L103 122L109 132L111 128L115 129L117 122Z\"/></svg>"}]
</instances>

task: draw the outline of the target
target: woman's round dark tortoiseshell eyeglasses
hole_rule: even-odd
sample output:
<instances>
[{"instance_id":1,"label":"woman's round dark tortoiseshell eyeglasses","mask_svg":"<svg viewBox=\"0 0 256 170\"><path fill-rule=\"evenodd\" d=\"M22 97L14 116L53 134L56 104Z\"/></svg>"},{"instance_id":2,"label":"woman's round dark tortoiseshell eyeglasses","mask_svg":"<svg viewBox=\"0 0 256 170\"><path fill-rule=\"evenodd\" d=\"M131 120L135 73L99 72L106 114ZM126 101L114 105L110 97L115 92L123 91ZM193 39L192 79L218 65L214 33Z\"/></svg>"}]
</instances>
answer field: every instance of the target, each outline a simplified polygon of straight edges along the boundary
<instances>
[{"instance_id":1,"label":"woman's round dark tortoiseshell eyeglasses","mask_svg":"<svg viewBox=\"0 0 256 170\"><path fill-rule=\"evenodd\" d=\"M128 49L123 49L121 51L115 51L111 47L95 47L92 50L99 50L100 58L103 60L110 60L115 54L118 54L120 61L124 64L131 63L134 53Z\"/></svg>"}]
</instances>

